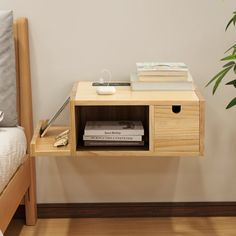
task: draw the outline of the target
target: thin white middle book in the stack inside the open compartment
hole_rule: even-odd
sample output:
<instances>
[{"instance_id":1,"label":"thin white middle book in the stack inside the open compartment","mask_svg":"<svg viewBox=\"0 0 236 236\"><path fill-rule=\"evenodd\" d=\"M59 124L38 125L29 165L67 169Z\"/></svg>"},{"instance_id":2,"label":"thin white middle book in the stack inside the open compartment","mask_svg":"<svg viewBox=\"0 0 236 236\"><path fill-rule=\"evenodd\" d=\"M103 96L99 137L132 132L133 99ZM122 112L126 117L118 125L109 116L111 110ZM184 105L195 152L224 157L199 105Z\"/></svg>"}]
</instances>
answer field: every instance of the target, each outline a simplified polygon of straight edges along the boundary
<instances>
[{"instance_id":1,"label":"thin white middle book in the stack inside the open compartment","mask_svg":"<svg viewBox=\"0 0 236 236\"><path fill-rule=\"evenodd\" d=\"M142 141L141 135L84 135L84 141Z\"/></svg>"}]
</instances>

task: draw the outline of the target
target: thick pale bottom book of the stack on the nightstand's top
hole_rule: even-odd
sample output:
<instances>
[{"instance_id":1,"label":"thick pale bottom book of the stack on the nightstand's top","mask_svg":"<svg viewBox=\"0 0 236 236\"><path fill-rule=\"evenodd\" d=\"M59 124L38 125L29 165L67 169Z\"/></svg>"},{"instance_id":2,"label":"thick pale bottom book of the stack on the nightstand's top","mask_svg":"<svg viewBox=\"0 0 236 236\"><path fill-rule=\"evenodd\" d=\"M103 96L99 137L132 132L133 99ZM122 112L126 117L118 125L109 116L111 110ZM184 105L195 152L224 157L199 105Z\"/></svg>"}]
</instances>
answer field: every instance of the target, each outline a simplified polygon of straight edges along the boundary
<instances>
[{"instance_id":1,"label":"thick pale bottom book of the stack on the nightstand's top","mask_svg":"<svg viewBox=\"0 0 236 236\"><path fill-rule=\"evenodd\" d=\"M195 89L192 76L188 74L186 81L159 81L142 82L138 80L137 74L130 76L131 88L134 91L192 91Z\"/></svg>"}]
</instances>

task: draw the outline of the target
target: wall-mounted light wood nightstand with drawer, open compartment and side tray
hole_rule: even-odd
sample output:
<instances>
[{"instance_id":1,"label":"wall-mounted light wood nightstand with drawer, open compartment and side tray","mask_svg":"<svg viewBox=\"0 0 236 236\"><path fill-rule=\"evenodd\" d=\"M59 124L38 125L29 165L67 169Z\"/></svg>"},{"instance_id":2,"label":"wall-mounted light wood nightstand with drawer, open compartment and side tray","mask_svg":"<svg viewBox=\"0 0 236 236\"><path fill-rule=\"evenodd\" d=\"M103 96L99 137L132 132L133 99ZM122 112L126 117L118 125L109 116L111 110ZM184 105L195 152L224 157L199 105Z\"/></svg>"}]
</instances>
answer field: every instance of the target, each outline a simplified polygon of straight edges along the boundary
<instances>
[{"instance_id":1,"label":"wall-mounted light wood nightstand with drawer, open compartment and side tray","mask_svg":"<svg viewBox=\"0 0 236 236\"><path fill-rule=\"evenodd\" d=\"M55 136L67 127L52 127L39 137L39 122L31 143L34 156L202 156L205 101L196 91L132 91L117 87L114 95L97 95L92 82L73 86L70 100L70 143L54 148ZM143 147L85 147L86 121L140 120Z\"/></svg>"}]
</instances>

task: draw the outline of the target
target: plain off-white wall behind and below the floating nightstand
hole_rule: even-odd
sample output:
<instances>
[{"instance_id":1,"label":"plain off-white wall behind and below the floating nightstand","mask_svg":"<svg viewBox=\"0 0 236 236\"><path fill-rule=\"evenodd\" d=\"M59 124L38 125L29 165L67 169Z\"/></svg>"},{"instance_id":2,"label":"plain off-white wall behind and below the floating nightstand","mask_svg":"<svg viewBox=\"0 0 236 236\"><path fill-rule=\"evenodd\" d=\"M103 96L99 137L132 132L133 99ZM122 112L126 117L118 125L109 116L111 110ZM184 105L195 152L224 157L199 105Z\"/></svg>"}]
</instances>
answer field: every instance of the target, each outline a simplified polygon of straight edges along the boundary
<instances>
[{"instance_id":1,"label":"plain off-white wall behind and below the floating nightstand","mask_svg":"<svg viewBox=\"0 0 236 236\"><path fill-rule=\"evenodd\" d=\"M224 28L235 0L1 0L30 23L34 123L74 81L108 68L127 79L137 61L183 61L207 101L204 158L37 158L38 202L236 201L235 96L206 82L236 40ZM64 114L63 121L68 120Z\"/></svg>"}]
</instances>

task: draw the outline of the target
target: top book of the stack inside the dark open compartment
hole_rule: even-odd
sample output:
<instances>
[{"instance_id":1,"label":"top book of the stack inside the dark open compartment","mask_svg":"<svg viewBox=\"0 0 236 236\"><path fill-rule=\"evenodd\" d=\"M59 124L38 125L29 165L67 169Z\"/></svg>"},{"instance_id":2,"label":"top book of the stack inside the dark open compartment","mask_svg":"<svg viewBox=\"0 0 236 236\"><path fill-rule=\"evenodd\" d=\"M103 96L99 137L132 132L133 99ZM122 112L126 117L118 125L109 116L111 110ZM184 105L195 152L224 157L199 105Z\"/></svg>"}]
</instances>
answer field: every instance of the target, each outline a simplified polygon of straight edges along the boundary
<instances>
[{"instance_id":1,"label":"top book of the stack inside the dark open compartment","mask_svg":"<svg viewBox=\"0 0 236 236\"><path fill-rule=\"evenodd\" d=\"M141 121L87 121L84 135L144 135Z\"/></svg>"}]
</instances>

